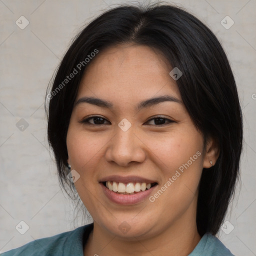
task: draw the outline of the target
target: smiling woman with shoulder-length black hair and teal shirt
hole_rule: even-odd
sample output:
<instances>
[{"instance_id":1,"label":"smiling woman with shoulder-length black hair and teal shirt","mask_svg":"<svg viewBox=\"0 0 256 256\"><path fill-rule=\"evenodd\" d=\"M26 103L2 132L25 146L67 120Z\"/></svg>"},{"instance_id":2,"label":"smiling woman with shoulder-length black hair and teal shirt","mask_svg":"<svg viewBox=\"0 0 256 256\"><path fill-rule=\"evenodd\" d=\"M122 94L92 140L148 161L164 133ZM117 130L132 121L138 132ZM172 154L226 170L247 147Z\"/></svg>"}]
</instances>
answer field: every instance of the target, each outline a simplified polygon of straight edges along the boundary
<instances>
[{"instance_id":1,"label":"smiling woman with shoulder-length black hair and teal shirt","mask_svg":"<svg viewBox=\"0 0 256 256\"><path fill-rule=\"evenodd\" d=\"M242 148L219 41L166 4L91 21L46 96L59 181L93 223L2 255L233 255L216 237Z\"/></svg>"}]
</instances>

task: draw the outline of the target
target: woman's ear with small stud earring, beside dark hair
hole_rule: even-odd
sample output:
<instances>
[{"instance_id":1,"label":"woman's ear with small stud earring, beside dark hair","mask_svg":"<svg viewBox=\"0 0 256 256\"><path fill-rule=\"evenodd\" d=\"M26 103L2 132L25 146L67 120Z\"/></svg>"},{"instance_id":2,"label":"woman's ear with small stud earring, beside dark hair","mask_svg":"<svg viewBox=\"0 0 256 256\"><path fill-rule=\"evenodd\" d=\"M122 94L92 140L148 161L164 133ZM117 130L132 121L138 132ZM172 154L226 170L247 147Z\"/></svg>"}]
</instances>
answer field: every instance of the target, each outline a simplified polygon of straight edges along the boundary
<instances>
[{"instance_id":1,"label":"woman's ear with small stud earring, beside dark hair","mask_svg":"<svg viewBox=\"0 0 256 256\"><path fill-rule=\"evenodd\" d=\"M219 144L216 138L210 136L206 140L204 158L203 158L203 168L210 168L212 162L212 166L215 164L217 158L219 156Z\"/></svg>"}]
</instances>

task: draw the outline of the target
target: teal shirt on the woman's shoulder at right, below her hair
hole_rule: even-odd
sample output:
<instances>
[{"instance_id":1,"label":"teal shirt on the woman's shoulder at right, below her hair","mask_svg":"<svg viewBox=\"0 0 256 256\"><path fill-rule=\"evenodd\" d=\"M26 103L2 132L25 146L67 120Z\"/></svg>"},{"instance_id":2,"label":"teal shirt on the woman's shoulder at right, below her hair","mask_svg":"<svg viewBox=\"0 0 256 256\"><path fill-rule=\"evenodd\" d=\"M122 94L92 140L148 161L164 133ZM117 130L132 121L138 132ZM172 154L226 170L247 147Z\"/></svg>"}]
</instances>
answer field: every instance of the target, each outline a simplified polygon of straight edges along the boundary
<instances>
[{"instance_id":1,"label":"teal shirt on the woman's shoulder at right, below her hair","mask_svg":"<svg viewBox=\"0 0 256 256\"><path fill-rule=\"evenodd\" d=\"M234 256L214 235L206 233L188 256Z\"/></svg>"}]
</instances>

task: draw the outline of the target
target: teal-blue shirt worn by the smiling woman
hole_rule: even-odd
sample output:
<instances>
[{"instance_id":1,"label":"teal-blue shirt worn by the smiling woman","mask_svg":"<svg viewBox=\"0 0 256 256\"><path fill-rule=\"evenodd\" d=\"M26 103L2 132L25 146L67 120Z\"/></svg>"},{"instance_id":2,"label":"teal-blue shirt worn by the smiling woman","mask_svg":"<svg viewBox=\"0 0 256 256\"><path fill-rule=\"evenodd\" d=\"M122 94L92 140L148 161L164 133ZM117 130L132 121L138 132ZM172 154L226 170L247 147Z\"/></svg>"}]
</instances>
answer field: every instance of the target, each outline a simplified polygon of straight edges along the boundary
<instances>
[{"instance_id":1,"label":"teal-blue shirt worn by the smiling woman","mask_svg":"<svg viewBox=\"0 0 256 256\"><path fill-rule=\"evenodd\" d=\"M83 256L93 223L77 227L72 231L36 239L23 246L3 252L0 256ZM100 252L95 252L100 255ZM206 233L188 256L234 256L215 236Z\"/></svg>"}]
</instances>

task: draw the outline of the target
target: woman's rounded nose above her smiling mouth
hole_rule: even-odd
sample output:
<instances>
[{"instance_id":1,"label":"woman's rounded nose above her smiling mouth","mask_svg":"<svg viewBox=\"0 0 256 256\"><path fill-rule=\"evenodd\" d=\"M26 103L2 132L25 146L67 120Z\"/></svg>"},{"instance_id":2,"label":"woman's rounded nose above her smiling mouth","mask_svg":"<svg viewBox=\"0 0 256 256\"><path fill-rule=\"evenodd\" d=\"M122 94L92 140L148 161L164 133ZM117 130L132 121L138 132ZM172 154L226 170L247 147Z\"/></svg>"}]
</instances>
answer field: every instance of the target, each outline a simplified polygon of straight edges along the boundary
<instances>
[{"instance_id":1,"label":"woman's rounded nose above her smiling mouth","mask_svg":"<svg viewBox=\"0 0 256 256\"><path fill-rule=\"evenodd\" d=\"M127 167L134 162L143 162L145 156L145 144L132 126L126 131L117 126L105 152L106 160Z\"/></svg>"}]
</instances>

